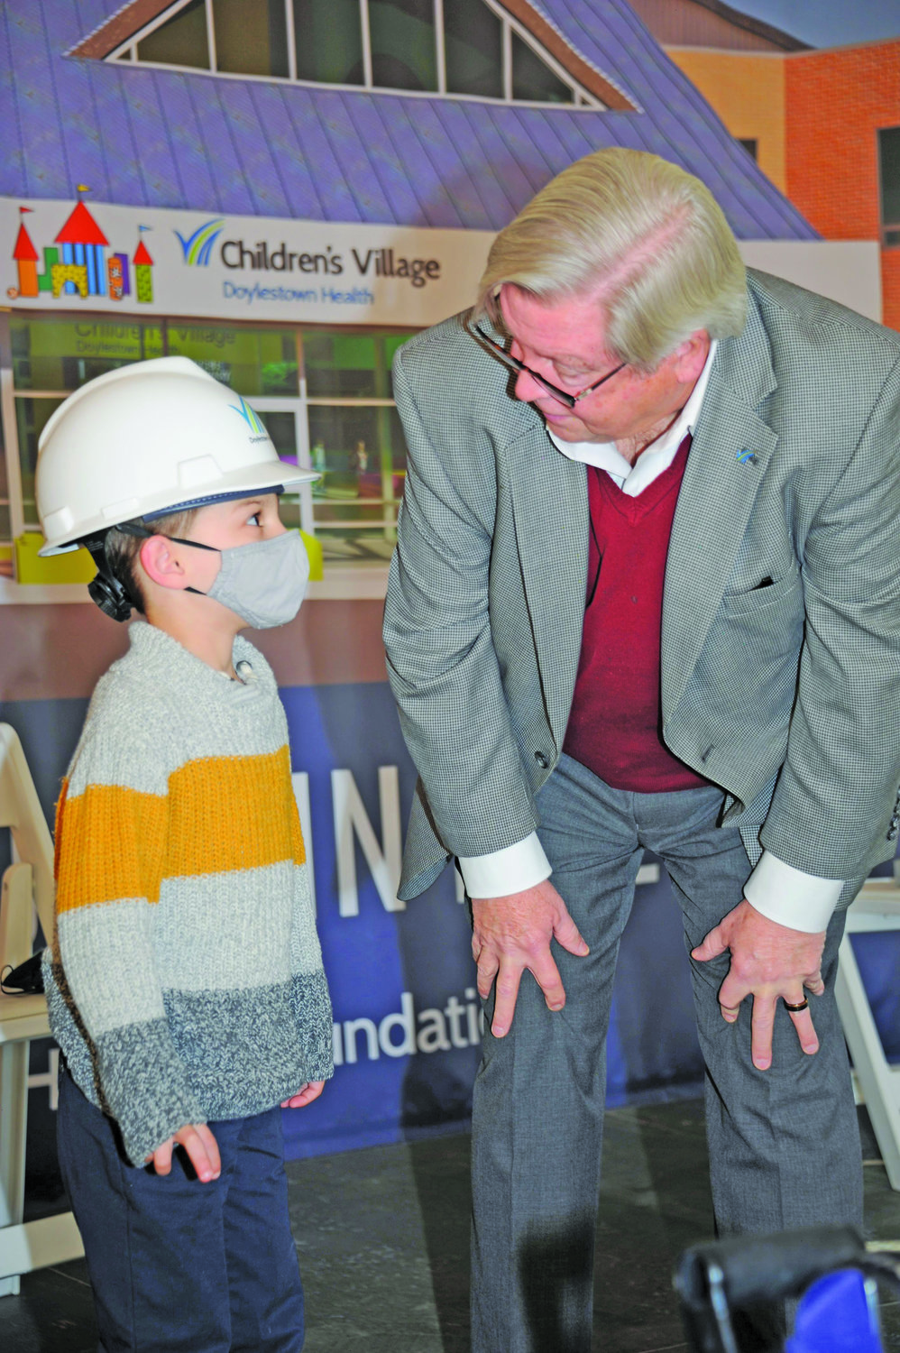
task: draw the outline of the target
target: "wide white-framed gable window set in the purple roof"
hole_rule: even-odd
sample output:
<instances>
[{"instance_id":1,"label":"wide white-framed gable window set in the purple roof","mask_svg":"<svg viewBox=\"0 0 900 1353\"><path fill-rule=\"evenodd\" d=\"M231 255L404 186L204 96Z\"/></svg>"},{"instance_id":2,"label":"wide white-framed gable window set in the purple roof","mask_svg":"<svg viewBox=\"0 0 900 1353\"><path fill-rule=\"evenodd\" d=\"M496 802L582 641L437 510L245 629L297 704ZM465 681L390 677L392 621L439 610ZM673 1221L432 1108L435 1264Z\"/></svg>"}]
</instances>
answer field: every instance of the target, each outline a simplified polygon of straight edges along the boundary
<instances>
[{"instance_id":1,"label":"wide white-framed gable window set in the purple roof","mask_svg":"<svg viewBox=\"0 0 900 1353\"><path fill-rule=\"evenodd\" d=\"M602 107L491 0L184 0L166 14L110 60Z\"/></svg>"}]
</instances>

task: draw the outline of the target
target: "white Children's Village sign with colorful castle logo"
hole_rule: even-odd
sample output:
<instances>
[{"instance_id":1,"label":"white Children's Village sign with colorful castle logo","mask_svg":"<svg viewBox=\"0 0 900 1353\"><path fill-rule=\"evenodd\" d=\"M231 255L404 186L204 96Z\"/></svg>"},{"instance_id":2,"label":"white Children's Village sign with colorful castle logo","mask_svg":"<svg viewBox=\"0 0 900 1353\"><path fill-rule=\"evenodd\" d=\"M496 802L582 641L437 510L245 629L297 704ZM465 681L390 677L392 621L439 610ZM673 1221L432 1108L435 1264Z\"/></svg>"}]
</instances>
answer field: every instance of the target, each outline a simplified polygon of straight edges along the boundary
<instances>
[{"instance_id":1,"label":"white Children's Village sign with colorful castle logo","mask_svg":"<svg viewBox=\"0 0 900 1353\"><path fill-rule=\"evenodd\" d=\"M7 198L0 238L16 308L424 326L475 294L494 237Z\"/></svg>"}]
</instances>

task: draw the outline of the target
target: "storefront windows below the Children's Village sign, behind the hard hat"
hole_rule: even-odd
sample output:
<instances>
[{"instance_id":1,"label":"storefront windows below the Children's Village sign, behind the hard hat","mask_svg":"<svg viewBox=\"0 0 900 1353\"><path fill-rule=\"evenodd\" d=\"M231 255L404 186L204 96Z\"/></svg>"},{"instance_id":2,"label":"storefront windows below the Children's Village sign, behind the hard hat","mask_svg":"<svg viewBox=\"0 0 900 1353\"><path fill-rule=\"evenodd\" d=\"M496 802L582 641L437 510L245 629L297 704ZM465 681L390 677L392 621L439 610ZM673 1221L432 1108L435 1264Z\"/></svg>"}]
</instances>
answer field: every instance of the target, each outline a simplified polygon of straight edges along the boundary
<instances>
[{"instance_id":1,"label":"storefront windows below the Children's Village sign, behind the hard hat","mask_svg":"<svg viewBox=\"0 0 900 1353\"><path fill-rule=\"evenodd\" d=\"M19 315L9 317L9 327L15 413L5 433L15 488L8 497L0 460L0 549L5 544L7 555L12 534L39 529L34 474L53 410L106 371L180 354L248 396L279 456L319 471L311 487L286 495L283 515L318 537L326 563L390 557L406 472L390 367L409 334Z\"/></svg>"}]
</instances>

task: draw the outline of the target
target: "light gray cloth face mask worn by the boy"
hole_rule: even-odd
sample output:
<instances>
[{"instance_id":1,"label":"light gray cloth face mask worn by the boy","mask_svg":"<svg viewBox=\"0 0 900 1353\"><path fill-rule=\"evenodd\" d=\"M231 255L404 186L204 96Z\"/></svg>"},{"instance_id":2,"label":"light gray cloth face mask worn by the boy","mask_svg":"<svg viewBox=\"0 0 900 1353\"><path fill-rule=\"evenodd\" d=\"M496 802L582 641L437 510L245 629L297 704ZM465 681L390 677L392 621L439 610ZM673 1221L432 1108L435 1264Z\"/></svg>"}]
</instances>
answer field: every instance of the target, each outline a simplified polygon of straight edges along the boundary
<instances>
[{"instance_id":1,"label":"light gray cloth face mask worn by the boy","mask_svg":"<svg viewBox=\"0 0 900 1353\"><path fill-rule=\"evenodd\" d=\"M299 532L288 530L219 553L222 567L207 597L227 606L253 629L273 629L294 620L310 576Z\"/></svg>"}]
</instances>

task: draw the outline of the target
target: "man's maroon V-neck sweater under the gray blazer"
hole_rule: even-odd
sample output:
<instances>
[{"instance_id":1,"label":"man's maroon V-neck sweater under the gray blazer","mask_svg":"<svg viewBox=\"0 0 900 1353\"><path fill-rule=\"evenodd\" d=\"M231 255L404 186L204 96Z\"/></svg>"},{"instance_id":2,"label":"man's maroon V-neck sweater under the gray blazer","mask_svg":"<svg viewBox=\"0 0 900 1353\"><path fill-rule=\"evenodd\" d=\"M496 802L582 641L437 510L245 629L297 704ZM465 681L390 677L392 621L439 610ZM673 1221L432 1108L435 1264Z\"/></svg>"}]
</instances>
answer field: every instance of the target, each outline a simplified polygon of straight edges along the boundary
<instances>
[{"instance_id":1,"label":"man's maroon V-neck sweater under the gray blazer","mask_svg":"<svg viewBox=\"0 0 900 1353\"><path fill-rule=\"evenodd\" d=\"M666 556L689 451L690 434L636 498L605 471L587 469L587 607L563 751L613 789L643 794L709 783L673 756L659 731Z\"/></svg>"}]
</instances>

